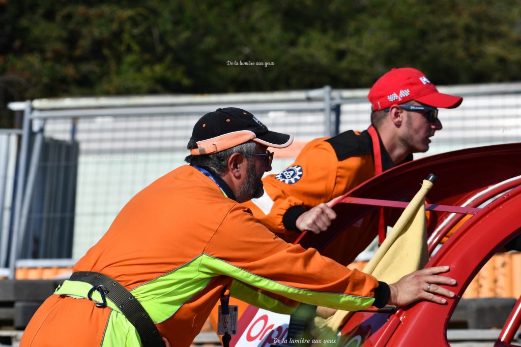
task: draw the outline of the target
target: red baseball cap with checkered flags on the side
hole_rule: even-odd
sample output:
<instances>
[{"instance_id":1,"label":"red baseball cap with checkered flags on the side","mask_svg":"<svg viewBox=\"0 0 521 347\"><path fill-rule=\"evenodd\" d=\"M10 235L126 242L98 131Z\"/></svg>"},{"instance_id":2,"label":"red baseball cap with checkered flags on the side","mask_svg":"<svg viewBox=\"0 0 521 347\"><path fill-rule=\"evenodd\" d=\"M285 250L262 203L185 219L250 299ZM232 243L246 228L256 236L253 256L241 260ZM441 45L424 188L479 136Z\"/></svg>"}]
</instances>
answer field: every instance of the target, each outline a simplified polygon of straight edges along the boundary
<instances>
[{"instance_id":1,"label":"red baseball cap with checkered flags on the side","mask_svg":"<svg viewBox=\"0 0 521 347\"><path fill-rule=\"evenodd\" d=\"M374 111L416 100L432 107L455 108L463 98L438 92L425 74L413 68L392 69L375 82L367 98Z\"/></svg>"}]
</instances>

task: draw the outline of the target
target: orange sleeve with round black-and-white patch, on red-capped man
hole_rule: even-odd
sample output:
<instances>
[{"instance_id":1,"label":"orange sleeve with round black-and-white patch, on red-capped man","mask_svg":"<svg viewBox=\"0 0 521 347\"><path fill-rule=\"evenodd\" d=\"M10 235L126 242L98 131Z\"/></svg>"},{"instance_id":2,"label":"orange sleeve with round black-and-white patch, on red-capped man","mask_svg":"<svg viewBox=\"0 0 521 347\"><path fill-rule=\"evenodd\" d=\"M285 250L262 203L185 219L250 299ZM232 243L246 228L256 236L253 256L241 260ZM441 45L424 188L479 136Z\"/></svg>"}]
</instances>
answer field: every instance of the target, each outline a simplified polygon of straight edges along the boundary
<instances>
[{"instance_id":1,"label":"orange sleeve with round black-and-white patch, on red-capped man","mask_svg":"<svg viewBox=\"0 0 521 347\"><path fill-rule=\"evenodd\" d=\"M370 153L339 158L327 138L315 139L302 149L289 168L266 176L265 196L246 205L272 232L298 235L288 230L291 223L284 223L284 215L291 208L310 209L328 202L374 176L374 172Z\"/></svg>"}]
</instances>

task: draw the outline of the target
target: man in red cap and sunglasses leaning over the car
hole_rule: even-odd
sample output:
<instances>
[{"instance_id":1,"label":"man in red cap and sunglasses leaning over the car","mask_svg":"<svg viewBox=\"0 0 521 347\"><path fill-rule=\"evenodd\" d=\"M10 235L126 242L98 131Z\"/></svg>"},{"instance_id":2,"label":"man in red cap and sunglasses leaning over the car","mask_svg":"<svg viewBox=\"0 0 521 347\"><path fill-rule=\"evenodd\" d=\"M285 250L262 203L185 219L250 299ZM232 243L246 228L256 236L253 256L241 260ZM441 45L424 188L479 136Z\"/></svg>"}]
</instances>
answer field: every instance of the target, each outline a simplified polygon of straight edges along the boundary
<instances>
[{"instance_id":1,"label":"man in red cap and sunglasses leaning over the car","mask_svg":"<svg viewBox=\"0 0 521 347\"><path fill-rule=\"evenodd\" d=\"M326 202L412 160L412 153L427 151L430 137L442 128L438 108L462 102L461 97L439 93L424 73L412 68L387 72L367 97L372 108L368 130L312 140L289 168L263 179L263 197L246 203L288 242L303 230L327 229L336 214Z\"/></svg>"}]
</instances>

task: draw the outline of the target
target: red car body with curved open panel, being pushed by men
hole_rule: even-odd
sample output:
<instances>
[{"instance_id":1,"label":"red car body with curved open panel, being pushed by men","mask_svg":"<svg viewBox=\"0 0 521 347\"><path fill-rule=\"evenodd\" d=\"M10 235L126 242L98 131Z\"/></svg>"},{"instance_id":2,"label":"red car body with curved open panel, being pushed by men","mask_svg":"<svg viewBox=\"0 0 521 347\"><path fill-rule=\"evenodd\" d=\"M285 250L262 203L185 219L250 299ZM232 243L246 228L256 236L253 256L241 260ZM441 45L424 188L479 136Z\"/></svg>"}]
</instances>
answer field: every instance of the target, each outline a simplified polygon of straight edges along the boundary
<instances>
[{"instance_id":1,"label":"red car body with curved open panel, being pushed by men","mask_svg":"<svg viewBox=\"0 0 521 347\"><path fill-rule=\"evenodd\" d=\"M381 208L378 202L376 205L356 203L356 198L408 201L430 173L438 180L427 195L427 202L431 204L428 208L431 210L428 223L431 258L426 266L450 265L448 275L457 281L457 285L451 287L456 297L445 305L422 301L397 310L356 312L341 328L337 346L448 346L446 327L470 281L506 242L521 234L521 144L507 144L442 153L405 163L373 177L334 205L338 217L327 233L304 233L299 242L303 247L316 248L341 263L352 262L352 256L338 252L328 254L328 245L345 240L345 233L354 223L375 215ZM464 206L472 210L472 214L468 220L463 220L466 214L439 211L437 205ZM461 209L453 210L461 212ZM366 233L358 242L346 246L350 247L349 254L363 251L377 236L376 228L366 230ZM448 233L452 235L439 247ZM356 238L358 235L349 236ZM439 249L434 252L437 246ZM521 301L518 300L505 322L497 346L511 345L521 323L520 311ZM237 338L233 340L246 341L244 336L248 336L247 341L251 340L251 345L255 346L283 341L287 325L280 323L280 315L271 320L270 317L276 314L264 313L264 316L259 315L255 307L247 307L239 319ZM257 330L260 333L253 339ZM233 340L232 345L244 345Z\"/></svg>"}]
</instances>

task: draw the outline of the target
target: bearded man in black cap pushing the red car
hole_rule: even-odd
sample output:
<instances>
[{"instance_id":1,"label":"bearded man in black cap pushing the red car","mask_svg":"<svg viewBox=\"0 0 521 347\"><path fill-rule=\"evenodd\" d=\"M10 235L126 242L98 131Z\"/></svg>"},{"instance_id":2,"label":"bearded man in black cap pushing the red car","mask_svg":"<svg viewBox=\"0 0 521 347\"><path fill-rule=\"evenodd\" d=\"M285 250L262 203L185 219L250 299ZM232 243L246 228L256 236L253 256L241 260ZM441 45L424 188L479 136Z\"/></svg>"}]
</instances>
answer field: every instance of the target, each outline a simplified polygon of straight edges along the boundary
<instances>
[{"instance_id":1,"label":"bearded man in black cap pushing the red car","mask_svg":"<svg viewBox=\"0 0 521 347\"><path fill-rule=\"evenodd\" d=\"M439 286L455 283L437 275L446 266L388 285L289 245L253 217L240 202L262 194L267 147L291 142L242 109L205 114L189 142L190 165L123 207L33 316L20 346L148 346L160 337L189 346L219 300L226 345L236 329L229 295L286 314L299 302L359 310L453 297ZM141 309L129 312L137 302Z\"/></svg>"}]
</instances>

